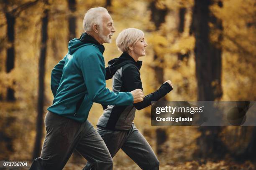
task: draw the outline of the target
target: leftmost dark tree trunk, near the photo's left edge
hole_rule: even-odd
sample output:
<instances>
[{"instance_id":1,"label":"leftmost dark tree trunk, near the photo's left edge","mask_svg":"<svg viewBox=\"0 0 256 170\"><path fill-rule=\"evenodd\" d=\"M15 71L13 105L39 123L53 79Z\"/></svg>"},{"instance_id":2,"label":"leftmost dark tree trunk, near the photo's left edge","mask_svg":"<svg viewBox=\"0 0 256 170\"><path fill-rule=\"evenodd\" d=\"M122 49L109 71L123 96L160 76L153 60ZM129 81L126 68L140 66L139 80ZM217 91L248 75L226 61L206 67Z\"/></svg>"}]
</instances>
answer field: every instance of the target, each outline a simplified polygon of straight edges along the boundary
<instances>
[{"instance_id":1,"label":"leftmost dark tree trunk, near the photo's left edge","mask_svg":"<svg viewBox=\"0 0 256 170\"><path fill-rule=\"evenodd\" d=\"M7 47L7 57L6 57L6 72L10 72L14 68L14 61L15 61L15 16L13 13L5 13L6 21L7 21L7 37L8 37L8 44L10 46ZM15 82L13 82L15 83ZM14 89L12 87L7 88L6 94L7 101L15 101L14 96Z\"/></svg>"}]
</instances>

